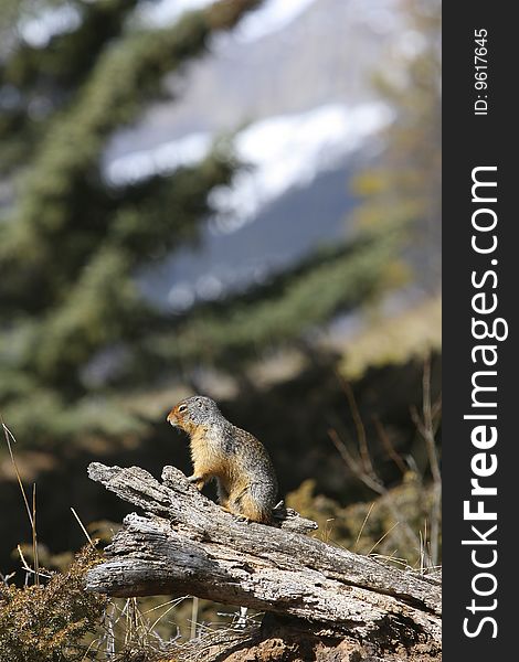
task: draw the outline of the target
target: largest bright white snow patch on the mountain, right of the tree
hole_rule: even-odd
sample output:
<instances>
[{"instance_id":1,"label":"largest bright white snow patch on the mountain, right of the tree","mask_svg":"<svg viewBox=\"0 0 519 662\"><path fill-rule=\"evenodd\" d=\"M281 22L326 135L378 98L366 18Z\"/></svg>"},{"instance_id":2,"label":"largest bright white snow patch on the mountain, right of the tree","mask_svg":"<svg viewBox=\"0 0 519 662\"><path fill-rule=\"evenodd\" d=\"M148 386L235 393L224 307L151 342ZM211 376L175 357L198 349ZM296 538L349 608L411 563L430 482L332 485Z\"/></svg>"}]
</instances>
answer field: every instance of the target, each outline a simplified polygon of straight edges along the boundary
<instances>
[{"instance_id":1,"label":"largest bright white snow patch on the mountain, right of the tree","mask_svg":"<svg viewBox=\"0 0 519 662\"><path fill-rule=\"evenodd\" d=\"M210 203L215 232L235 232L260 210L292 188L305 188L322 171L358 150L390 118L384 104L348 108L332 104L300 115L258 121L239 134L239 159L253 166L240 170L230 186L216 188Z\"/></svg>"}]
</instances>

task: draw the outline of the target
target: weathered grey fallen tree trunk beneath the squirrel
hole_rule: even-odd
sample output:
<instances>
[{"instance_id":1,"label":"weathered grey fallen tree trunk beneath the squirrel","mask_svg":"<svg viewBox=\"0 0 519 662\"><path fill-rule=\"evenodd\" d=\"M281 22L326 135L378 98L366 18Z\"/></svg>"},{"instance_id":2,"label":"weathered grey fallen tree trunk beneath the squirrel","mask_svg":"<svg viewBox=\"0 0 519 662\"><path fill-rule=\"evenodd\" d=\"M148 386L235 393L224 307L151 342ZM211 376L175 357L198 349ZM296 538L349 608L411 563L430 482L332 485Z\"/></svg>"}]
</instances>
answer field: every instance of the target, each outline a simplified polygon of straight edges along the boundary
<instances>
[{"instance_id":1,"label":"weathered grey fallen tree trunk beneath the squirrel","mask_svg":"<svg viewBox=\"0 0 519 662\"><path fill-rule=\"evenodd\" d=\"M193 595L305 622L383 660L439 659L437 580L309 537L314 524L294 512L276 513L275 526L237 521L173 467L162 482L136 467L93 463L88 473L145 511L125 517L89 590Z\"/></svg>"}]
</instances>

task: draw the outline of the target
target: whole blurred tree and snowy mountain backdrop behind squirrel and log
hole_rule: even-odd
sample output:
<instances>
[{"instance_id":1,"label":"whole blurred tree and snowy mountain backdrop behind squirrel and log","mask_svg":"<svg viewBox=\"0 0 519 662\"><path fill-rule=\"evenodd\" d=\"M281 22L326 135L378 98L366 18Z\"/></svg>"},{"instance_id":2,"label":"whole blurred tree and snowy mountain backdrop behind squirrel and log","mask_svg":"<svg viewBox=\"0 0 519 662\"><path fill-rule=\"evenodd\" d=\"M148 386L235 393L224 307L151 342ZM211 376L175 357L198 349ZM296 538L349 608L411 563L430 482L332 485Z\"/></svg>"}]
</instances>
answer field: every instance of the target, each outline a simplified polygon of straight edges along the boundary
<instances>
[{"instance_id":1,"label":"whole blurred tree and snowy mountain backdrop behind squirrel and log","mask_svg":"<svg viewBox=\"0 0 519 662\"><path fill-rule=\"evenodd\" d=\"M320 534L439 562L437 0L1 0L0 412L40 563L190 473L194 392ZM211 494L209 491L208 494ZM0 447L0 570L31 526Z\"/></svg>"}]
</instances>

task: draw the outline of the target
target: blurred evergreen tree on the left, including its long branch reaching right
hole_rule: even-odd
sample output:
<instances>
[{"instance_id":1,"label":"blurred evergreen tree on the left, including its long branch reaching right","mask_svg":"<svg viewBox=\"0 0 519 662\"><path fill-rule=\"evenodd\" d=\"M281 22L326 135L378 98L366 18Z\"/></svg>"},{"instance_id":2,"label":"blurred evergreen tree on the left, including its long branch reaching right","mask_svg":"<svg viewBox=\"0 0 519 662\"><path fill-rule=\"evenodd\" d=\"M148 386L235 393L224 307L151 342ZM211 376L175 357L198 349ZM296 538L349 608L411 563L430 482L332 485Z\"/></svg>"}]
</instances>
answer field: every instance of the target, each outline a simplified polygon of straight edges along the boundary
<instances>
[{"instance_id":1,"label":"blurred evergreen tree on the left, including its long branch reaching right","mask_svg":"<svg viewBox=\"0 0 519 662\"><path fill-rule=\"evenodd\" d=\"M125 408L133 395L200 365L236 375L297 344L386 285L401 241L398 227L371 229L240 295L183 314L153 307L139 269L200 239L209 193L236 163L215 149L195 167L115 186L104 149L163 94L166 74L258 1L222 0L146 30L129 20L137 4L67 0L77 25L43 46L20 36L29 0L6 2L0 23L0 407L28 445L142 430ZM103 380L92 378L96 361L112 365Z\"/></svg>"}]
</instances>

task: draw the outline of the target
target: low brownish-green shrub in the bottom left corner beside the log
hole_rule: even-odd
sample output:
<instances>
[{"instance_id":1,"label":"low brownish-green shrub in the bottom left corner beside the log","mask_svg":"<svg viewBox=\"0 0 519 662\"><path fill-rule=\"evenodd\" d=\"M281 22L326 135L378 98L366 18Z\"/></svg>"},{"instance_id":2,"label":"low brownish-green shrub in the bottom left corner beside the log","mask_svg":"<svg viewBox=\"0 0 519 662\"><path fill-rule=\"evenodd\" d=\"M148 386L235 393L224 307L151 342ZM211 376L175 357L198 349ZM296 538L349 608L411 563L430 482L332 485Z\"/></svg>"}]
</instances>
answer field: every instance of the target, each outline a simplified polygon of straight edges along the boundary
<instances>
[{"instance_id":1,"label":"low brownish-green shrub in the bottom left corner beside the log","mask_svg":"<svg viewBox=\"0 0 519 662\"><path fill-rule=\"evenodd\" d=\"M0 585L0 659L74 662L85 659L85 636L98 628L107 600L84 588L98 555L85 547L64 574L45 585Z\"/></svg>"}]
</instances>

